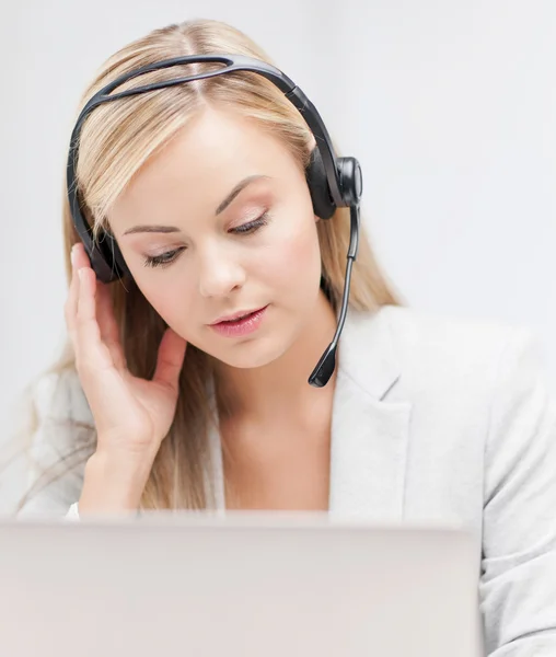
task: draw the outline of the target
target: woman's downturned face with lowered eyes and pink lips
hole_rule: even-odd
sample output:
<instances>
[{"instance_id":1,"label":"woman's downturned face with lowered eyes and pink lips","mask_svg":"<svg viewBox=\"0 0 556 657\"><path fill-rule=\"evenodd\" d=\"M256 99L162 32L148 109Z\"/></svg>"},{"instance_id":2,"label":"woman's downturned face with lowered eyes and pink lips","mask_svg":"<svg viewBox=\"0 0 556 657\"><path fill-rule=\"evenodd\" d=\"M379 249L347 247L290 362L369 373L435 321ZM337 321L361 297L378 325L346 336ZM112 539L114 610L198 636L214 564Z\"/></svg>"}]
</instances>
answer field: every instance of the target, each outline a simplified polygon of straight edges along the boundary
<instances>
[{"instance_id":1,"label":"woman's downturned face with lowered eyes and pink lips","mask_svg":"<svg viewBox=\"0 0 556 657\"><path fill-rule=\"evenodd\" d=\"M219 360L266 365L310 324L321 253L304 173L248 119L196 116L136 174L108 219L151 306Z\"/></svg>"}]
</instances>

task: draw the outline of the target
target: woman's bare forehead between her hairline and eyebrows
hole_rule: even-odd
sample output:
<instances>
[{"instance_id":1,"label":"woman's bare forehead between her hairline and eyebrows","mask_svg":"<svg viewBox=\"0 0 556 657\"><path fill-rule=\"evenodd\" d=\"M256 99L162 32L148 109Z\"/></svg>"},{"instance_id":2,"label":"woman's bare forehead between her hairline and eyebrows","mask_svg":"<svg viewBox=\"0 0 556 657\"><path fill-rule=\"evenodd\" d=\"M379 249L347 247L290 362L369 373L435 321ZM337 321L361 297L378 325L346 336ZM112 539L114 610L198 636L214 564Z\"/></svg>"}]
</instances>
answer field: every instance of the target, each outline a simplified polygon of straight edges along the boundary
<instances>
[{"instance_id":1,"label":"woman's bare forehead between her hairline and eyebrows","mask_svg":"<svg viewBox=\"0 0 556 657\"><path fill-rule=\"evenodd\" d=\"M280 185L294 170L286 146L253 120L206 110L136 173L116 200L111 223L119 232L146 215L162 220L176 205L207 216L242 178L266 175Z\"/></svg>"}]
</instances>

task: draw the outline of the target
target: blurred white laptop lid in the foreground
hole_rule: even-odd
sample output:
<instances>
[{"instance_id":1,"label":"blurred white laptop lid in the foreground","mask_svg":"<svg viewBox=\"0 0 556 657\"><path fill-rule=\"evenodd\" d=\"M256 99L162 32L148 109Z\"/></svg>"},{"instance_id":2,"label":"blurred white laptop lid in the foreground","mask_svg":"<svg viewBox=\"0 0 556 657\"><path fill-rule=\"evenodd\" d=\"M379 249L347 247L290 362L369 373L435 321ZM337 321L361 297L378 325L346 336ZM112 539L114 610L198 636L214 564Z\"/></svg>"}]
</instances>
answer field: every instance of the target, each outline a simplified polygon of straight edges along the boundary
<instances>
[{"instance_id":1,"label":"blurred white laptop lid in the foreground","mask_svg":"<svg viewBox=\"0 0 556 657\"><path fill-rule=\"evenodd\" d=\"M312 515L0 522L0 655L479 657L474 539Z\"/></svg>"}]
</instances>

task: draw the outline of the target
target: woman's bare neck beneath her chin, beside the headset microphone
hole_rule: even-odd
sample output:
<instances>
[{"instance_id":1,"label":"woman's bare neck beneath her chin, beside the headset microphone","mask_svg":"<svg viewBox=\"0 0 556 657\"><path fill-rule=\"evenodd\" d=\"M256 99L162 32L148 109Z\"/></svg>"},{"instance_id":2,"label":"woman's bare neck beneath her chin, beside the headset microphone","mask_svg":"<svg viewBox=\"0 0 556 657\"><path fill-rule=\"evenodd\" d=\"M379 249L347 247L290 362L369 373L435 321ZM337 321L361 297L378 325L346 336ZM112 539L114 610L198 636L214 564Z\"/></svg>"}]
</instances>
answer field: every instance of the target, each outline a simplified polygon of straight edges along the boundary
<instances>
[{"instance_id":1,"label":"woman's bare neck beneath her chin, beside the headset microphone","mask_svg":"<svg viewBox=\"0 0 556 657\"><path fill-rule=\"evenodd\" d=\"M285 419L285 408L290 417L304 417L308 408L323 402L334 390L336 372L324 390L313 388L308 379L335 330L334 310L321 290L311 321L280 358L253 369L219 362L217 389L219 396L225 399L228 413L257 423Z\"/></svg>"}]
</instances>

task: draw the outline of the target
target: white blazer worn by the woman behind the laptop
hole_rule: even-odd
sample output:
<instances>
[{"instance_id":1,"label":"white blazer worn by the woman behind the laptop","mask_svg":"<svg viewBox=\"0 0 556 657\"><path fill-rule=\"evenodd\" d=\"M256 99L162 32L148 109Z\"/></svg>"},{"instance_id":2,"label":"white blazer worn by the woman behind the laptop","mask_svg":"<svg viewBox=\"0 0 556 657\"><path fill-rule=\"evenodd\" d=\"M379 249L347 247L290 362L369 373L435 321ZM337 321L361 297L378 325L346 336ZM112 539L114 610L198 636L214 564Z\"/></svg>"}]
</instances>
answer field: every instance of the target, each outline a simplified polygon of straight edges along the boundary
<instances>
[{"instance_id":1,"label":"white blazer worn by the woman behind the laptop","mask_svg":"<svg viewBox=\"0 0 556 657\"><path fill-rule=\"evenodd\" d=\"M339 346L329 511L471 528L491 657L556 656L556 403L541 355L523 328L396 307L350 310ZM50 377L38 394L43 461L74 441L48 417L92 419L76 378L53 390ZM26 508L65 514L81 483L78 469ZM221 468L217 484L223 504Z\"/></svg>"}]
</instances>

